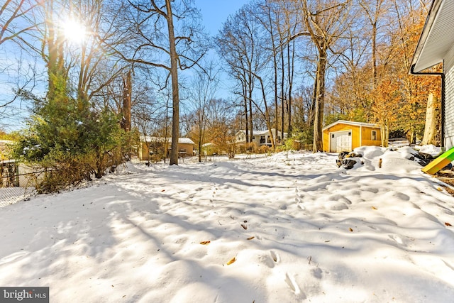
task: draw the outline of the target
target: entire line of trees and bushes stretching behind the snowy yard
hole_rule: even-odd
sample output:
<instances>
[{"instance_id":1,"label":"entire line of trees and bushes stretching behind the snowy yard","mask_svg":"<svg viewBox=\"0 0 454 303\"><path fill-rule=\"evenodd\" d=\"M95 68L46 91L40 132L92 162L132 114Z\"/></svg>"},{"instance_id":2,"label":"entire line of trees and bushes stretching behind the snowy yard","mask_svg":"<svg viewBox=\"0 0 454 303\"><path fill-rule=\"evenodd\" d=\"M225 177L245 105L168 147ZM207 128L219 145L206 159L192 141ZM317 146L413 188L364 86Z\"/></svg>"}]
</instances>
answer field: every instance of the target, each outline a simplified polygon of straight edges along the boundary
<instances>
[{"instance_id":1,"label":"entire line of trees and bushes stretching behind the snowy yard","mask_svg":"<svg viewBox=\"0 0 454 303\"><path fill-rule=\"evenodd\" d=\"M172 138L170 165L181 135L200 155L209 142L228 150L240 129L250 143L275 128L315 152L338 119L380 124L384 146L390 134L416 141L428 94L440 95L436 77L408 74L429 2L252 0L209 37L193 0L6 0L0 121L28 104L16 156L74 168L74 180L104 175L139 136Z\"/></svg>"}]
</instances>

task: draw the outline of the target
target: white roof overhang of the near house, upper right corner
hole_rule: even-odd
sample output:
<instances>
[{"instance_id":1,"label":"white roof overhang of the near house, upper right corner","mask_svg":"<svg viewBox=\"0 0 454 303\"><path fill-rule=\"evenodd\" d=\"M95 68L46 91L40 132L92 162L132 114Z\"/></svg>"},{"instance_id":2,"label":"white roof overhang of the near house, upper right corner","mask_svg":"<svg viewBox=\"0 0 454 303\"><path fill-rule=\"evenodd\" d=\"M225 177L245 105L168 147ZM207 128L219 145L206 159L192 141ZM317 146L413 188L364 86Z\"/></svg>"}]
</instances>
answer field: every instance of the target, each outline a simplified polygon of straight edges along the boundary
<instances>
[{"instance_id":1,"label":"white roof overhang of the near house, upper right corner","mask_svg":"<svg viewBox=\"0 0 454 303\"><path fill-rule=\"evenodd\" d=\"M453 22L454 1L433 0L411 60L411 72L421 72L443 62L454 44Z\"/></svg>"}]
</instances>

